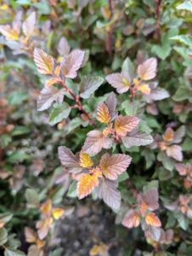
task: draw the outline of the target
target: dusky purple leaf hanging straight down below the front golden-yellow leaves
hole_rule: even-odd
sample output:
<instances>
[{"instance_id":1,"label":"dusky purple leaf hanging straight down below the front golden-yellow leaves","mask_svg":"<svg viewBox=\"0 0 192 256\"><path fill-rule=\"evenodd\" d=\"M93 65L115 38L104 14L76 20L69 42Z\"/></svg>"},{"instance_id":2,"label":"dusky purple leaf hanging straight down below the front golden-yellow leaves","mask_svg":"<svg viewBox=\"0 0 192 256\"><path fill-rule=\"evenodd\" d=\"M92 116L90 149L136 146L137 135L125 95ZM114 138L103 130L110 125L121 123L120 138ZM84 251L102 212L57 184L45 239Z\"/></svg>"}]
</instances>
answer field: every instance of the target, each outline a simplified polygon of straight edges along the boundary
<instances>
[{"instance_id":1,"label":"dusky purple leaf hanging straight down below the front golden-yellow leaves","mask_svg":"<svg viewBox=\"0 0 192 256\"><path fill-rule=\"evenodd\" d=\"M118 210L121 206L121 194L117 187L117 182L103 178L97 188L98 196L112 209Z\"/></svg>"}]
</instances>

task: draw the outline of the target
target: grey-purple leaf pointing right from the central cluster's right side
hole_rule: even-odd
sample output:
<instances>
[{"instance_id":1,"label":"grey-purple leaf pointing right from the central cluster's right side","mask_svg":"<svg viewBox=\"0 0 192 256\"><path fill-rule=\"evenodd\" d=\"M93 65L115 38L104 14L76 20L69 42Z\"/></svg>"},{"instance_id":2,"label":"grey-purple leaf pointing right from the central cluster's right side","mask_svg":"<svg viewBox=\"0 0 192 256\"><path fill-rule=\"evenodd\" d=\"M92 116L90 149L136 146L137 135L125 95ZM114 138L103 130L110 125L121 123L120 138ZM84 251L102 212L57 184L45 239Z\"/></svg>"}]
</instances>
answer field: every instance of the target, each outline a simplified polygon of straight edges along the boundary
<instances>
[{"instance_id":1,"label":"grey-purple leaf pointing right from the central cluster's right side","mask_svg":"<svg viewBox=\"0 0 192 256\"><path fill-rule=\"evenodd\" d=\"M132 146L145 146L153 142L153 138L145 131L133 130L127 133L126 137L122 138L122 143L126 148Z\"/></svg>"}]
</instances>

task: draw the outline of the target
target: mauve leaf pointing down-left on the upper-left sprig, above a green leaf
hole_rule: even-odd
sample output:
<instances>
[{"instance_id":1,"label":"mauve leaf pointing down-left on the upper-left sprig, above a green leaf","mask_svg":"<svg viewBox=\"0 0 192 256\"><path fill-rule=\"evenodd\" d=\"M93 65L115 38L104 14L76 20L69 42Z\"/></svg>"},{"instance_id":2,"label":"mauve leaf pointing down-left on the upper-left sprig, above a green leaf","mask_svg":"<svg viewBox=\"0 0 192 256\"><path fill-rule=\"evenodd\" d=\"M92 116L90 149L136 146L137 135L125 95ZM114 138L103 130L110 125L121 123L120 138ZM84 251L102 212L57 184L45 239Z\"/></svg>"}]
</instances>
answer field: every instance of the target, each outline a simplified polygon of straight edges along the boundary
<instances>
[{"instance_id":1,"label":"mauve leaf pointing down-left on the upper-left sprig, above a green leaf","mask_svg":"<svg viewBox=\"0 0 192 256\"><path fill-rule=\"evenodd\" d=\"M37 100L37 110L42 111L48 109L53 102L57 102L58 104L60 104L61 102L63 102L63 99L63 90L58 90L54 86L43 88Z\"/></svg>"}]
</instances>

